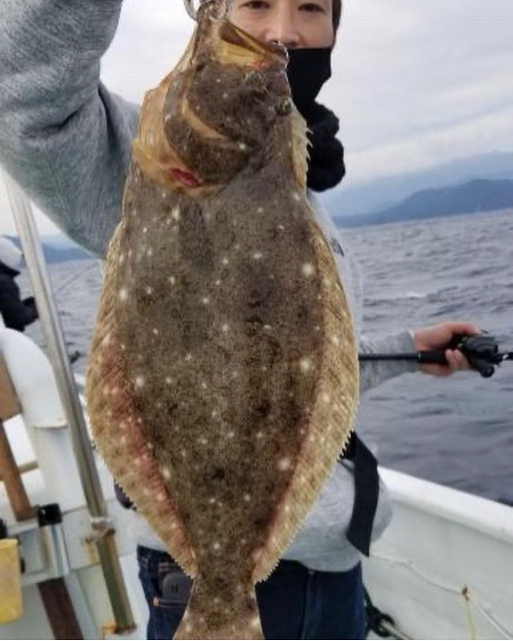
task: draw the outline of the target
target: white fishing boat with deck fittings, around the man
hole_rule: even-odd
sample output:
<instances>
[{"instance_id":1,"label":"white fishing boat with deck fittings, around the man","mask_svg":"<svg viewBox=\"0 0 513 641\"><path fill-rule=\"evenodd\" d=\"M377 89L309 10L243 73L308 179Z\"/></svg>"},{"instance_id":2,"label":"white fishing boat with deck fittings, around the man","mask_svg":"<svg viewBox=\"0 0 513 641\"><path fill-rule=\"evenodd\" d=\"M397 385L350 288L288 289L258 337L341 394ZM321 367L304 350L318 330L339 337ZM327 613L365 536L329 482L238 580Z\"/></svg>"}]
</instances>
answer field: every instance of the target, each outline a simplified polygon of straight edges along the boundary
<instances>
[{"instance_id":1,"label":"white fishing boat with deck fittings, around the man","mask_svg":"<svg viewBox=\"0 0 513 641\"><path fill-rule=\"evenodd\" d=\"M0 326L0 538L19 554L0 545L0 639L144 639L138 517L94 449L31 204L5 179L47 353ZM394 517L363 563L369 638L513 638L513 507L380 474Z\"/></svg>"}]
</instances>

